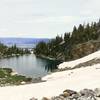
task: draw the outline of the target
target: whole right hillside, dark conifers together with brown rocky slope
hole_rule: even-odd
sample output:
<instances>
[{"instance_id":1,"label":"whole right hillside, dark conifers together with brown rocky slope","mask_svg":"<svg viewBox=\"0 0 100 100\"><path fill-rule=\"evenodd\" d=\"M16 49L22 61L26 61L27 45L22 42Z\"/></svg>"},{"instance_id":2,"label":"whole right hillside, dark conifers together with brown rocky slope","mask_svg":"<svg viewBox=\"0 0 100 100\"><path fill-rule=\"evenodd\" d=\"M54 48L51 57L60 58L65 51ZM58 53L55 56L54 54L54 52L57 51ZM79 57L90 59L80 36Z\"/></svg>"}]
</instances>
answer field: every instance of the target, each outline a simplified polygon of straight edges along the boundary
<instances>
[{"instance_id":1,"label":"whole right hillside, dark conifers together with brown rocky slope","mask_svg":"<svg viewBox=\"0 0 100 100\"><path fill-rule=\"evenodd\" d=\"M100 20L91 24L74 26L72 32L57 35L48 43L37 44L34 53L38 56L67 61L77 59L100 49Z\"/></svg>"}]
</instances>

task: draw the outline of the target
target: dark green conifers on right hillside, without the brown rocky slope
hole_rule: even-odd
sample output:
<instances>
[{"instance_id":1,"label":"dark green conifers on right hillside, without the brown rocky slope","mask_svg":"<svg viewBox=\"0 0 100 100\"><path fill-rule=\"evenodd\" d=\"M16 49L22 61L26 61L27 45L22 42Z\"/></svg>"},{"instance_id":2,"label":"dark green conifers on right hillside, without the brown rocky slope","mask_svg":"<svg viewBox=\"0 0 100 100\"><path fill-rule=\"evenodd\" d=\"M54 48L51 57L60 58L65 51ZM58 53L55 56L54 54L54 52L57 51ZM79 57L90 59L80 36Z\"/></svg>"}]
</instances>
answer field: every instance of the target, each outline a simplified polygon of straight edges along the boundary
<instances>
[{"instance_id":1,"label":"dark green conifers on right hillside, without the brown rocky slope","mask_svg":"<svg viewBox=\"0 0 100 100\"><path fill-rule=\"evenodd\" d=\"M74 26L72 32L64 33L64 36L57 35L48 43L39 42L34 49L36 55L44 55L53 58L64 57L64 60L71 59L71 49L77 44L97 40L100 37L100 20Z\"/></svg>"}]
</instances>

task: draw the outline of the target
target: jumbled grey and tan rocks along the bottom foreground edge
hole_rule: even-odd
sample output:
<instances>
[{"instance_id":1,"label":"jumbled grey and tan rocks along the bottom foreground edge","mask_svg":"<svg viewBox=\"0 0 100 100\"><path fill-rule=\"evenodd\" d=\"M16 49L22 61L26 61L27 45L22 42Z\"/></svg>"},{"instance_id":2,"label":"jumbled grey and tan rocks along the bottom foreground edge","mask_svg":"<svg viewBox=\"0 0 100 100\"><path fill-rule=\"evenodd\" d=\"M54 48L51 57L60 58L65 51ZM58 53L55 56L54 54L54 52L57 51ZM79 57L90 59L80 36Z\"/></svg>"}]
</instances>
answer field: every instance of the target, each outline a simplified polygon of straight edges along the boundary
<instances>
[{"instance_id":1,"label":"jumbled grey and tan rocks along the bottom foreground edge","mask_svg":"<svg viewBox=\"0 0 100 100\"><path fill-rule=\"evenodd\" d=\"M39 99L33 97L30 100ZM54 96L51 98L43 97L41 100L100 100L100 88L96 88L94 90L83 89L79 92L66 89L59 96Z\"/></svg>"}]
</instances>

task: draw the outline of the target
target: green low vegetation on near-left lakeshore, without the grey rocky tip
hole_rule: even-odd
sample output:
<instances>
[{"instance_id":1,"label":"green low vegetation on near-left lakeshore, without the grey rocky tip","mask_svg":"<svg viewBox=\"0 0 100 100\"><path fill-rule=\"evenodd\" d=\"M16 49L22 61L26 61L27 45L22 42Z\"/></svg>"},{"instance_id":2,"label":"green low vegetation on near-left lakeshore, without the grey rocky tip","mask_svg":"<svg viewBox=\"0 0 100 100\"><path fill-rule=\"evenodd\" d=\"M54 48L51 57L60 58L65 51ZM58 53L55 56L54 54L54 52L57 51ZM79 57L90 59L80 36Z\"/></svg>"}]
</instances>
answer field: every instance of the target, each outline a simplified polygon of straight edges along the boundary
<instances>
[{"instance_id":1,"label":"green low vegetation on near-left lakeshore, without the grey rocky tip","mask_svg":"<svg viewBox=\"0 0 100 100\"><path fill-rule=\"evenodd\" d=\"M23 83L32 82L32 78L26 78L22 75L12 75L13 71L10 68L0 68L0 86L20 85Z\"/></svg>"}]
</instances>

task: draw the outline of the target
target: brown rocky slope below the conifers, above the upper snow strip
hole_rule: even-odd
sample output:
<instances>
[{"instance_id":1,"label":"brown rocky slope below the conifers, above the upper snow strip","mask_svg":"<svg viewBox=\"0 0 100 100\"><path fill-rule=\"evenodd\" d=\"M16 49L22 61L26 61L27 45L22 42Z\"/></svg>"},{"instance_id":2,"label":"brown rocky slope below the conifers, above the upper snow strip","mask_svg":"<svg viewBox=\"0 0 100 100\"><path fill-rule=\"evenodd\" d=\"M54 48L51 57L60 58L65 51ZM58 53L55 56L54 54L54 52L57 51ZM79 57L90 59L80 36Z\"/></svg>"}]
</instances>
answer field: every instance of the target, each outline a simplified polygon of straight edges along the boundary
<instances>
[{"instance_id":1,"label":"brown rocky slope below the conifers, above the upper snow strip","mask_svg":"<svg viewBox=\"0 0 100 100\"><path fill-rule=\"evenodd\" d=\"M71 49L72 59L78 59L100 50L100 41L88 41L73 46Z\"/></svg>"}]
</instances>

